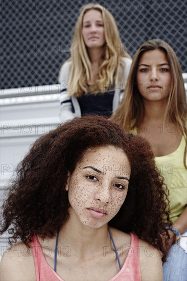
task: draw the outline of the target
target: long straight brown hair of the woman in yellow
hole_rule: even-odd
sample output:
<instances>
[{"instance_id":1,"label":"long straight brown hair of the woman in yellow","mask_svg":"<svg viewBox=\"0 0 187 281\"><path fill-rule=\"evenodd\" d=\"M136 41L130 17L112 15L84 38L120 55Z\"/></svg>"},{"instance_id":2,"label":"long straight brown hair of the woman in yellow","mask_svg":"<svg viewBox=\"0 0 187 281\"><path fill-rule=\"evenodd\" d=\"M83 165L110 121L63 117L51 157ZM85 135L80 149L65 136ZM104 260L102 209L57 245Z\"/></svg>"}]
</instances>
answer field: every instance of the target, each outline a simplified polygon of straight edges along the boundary
<instances>
[{"instance_id":1,"label":"long straight brown hair of the woman in yellow","mask_svg":"<svg viewBox=\"0 0 187 281\"><path fill-rule=\"evenodd\" d=\"M167 122L167 120L171 120L174 124L178 126L178 128L180 129L186 139L187 105L181 67L174 50L169 44L160 39L149 40L143 43L136 51L132 61L124 97L119 107L116 109L115 113L111 116L111 119L118 123L126 131L130 131L133 128L141 125L144 118L144 104L136 83L138 63L145 52L157 49L165 52L171 67L171 94L168 98L168 103L164 115L164 122ZM132 122L132 120L135 120L135 122ZM185 146L185 167L186 151L187 148Z\"/></svg>"}]
</instances>

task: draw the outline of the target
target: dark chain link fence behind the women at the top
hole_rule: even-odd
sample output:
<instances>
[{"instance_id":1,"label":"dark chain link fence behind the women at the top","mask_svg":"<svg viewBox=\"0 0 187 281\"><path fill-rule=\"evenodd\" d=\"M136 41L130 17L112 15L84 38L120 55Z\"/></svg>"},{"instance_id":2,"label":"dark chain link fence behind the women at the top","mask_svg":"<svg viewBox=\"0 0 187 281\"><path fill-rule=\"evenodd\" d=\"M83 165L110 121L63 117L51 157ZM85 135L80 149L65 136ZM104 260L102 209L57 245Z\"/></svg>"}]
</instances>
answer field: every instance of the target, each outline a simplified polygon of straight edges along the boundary
<instances>
[{"instance_id":1,"label":"dark chain link fence behind the women at the top","mask_svg":"<svg viewBox=\"0 0 187 281\"><path fill-rule=\"evenodd\" d=\"M144 41L160 38L171 44L187 72L186 0L2 0L1 88L58 83L79 10L89 2L113 14L131 56Z\"/></svg>"}]
</instances>

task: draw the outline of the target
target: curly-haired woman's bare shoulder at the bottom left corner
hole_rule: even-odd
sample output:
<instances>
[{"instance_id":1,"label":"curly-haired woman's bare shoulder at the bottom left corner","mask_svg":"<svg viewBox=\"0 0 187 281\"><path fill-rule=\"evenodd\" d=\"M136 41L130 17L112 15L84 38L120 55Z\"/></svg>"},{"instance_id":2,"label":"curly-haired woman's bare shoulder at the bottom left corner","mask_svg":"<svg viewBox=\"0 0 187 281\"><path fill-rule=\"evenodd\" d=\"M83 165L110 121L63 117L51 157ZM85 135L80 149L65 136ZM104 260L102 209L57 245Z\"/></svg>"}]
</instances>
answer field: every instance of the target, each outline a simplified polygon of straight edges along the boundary
<instances>
[{"instance_id":1,"label":"curly-haired woman's bare shoulder at the bottom left corner","mask_svg":"<svg viewBox=\"0 0 187 281\"><path fill-rule=\"evenodd\" d=\"M10 270L11 269L11 270ZM17 243L2 255L1 280L35 281L35 266L31 248L24 243Z\"/></svg>"}]
</instances>

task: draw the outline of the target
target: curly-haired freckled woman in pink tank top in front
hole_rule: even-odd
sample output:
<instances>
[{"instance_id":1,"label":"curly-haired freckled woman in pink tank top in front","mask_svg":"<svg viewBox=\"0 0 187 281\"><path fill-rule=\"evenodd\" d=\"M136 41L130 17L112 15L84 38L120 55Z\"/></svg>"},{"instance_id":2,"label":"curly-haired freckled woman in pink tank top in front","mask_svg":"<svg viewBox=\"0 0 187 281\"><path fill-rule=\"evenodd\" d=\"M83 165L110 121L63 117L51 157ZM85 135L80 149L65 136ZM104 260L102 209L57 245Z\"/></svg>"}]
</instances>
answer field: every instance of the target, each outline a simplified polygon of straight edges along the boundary
<instances>
[{"instance_id":1,"label":"curly-haired freckled woman in pink tank top in front","mask_svg":"<svg viewBox=\"0 0 187 281\"><path fill-rule=\"evenodd\" d=\"M161 280L166 200L144 138L101 116L66 122L17 168L4 202L1 233L12 247L2 280Z\"/></svg>"}]
</instances>

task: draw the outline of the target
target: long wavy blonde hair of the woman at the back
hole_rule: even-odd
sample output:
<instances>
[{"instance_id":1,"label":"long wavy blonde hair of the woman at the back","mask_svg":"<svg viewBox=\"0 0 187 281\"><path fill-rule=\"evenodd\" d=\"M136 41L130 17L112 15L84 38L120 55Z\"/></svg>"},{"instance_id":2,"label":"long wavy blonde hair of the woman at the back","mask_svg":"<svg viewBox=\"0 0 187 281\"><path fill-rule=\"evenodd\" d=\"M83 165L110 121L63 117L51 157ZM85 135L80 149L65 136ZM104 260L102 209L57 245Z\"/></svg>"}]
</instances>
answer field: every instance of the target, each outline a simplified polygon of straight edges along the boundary
<instances>
[{"instance_id":1,"label":"long wavy blonde hair of the woman at the back","mask_svg":"<svg viewBox=\"0 0 187 281\"><path fill-rule=\"evenodd\" d=\"M75 27L71 58L69 59L72 62L68 80L69 85L71 85L70 96L81 97L83 92L88 92L87 83L90 79L91 62L82 36L82 22L85 13L92 9L98 10L102 14L106 43L103 46L103 62L99 67L97 79L94 85L91 86L91 90L96 93L104 92L109 85L113 85L117 80L122 80L125 66L121 57L131 58L124 50L118 28L111 13L99 4L90 3L83 6Z\"/></svg>"}]
</instances>

